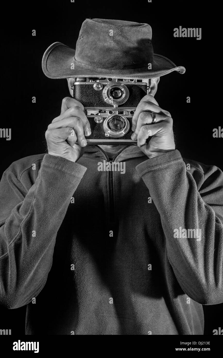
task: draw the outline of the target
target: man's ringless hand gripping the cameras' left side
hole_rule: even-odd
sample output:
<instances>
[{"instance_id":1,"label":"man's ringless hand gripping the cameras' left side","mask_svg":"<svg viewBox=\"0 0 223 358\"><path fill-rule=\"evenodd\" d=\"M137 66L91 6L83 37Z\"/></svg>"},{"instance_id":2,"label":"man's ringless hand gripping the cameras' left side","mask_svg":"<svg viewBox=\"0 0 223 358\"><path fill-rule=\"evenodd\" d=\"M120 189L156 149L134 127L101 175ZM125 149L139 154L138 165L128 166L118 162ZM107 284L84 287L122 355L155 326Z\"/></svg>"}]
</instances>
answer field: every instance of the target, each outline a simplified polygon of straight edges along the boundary
<instances>
[{"instance_id":1,"label":"man's ringless hand gripping the cameras' left side","mask_svg":"<svg viewBox=\"0 0 223 358\"><path fill-rule=\"evenodd\" d=\"M60 115L52 121L45 132L48 153L77 161L87 145L85 136L91 134L89 121L83 105L71 97L62 101ZM75 142L78 144L75 144Z\"/></svg>"}]
</instances>

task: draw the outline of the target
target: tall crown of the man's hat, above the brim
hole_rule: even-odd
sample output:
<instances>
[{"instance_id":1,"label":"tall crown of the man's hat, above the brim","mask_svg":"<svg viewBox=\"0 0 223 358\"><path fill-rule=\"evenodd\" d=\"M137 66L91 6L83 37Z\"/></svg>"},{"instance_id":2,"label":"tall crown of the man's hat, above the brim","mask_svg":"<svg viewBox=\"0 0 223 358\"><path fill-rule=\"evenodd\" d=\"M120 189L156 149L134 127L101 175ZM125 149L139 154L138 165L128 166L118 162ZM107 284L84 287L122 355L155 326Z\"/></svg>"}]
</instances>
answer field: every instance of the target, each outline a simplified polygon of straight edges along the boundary
<instances>
[{"instance_id":1,"label":"tall crown of the man's hat, above the brim","mask_svg":"<svg viewBox=\"0 0 223 358\"><path fill-rule=\"evenodd\" d=\"M152 29L131 21L86 19L76 44L75 61L87 66L136 69L153 63Z\"/></svg>"}]
</instances>

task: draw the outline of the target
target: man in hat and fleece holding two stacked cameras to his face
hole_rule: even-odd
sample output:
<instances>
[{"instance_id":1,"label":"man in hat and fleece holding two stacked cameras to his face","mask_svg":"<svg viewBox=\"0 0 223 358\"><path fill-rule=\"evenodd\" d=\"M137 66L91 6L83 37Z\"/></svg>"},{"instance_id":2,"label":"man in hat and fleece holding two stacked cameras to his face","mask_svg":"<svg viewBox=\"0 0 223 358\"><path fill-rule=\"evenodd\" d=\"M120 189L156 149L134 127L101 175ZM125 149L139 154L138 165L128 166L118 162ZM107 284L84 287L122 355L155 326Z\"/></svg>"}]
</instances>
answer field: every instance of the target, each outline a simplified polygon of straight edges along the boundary
<instances>
[{"instance_id":1,"label":"man in hat and fleece holding two stacked cameras to his face","mask_svg":"<svg viewBox=\"0 0 223 358\"><path fill-rule=\"evenodd\" d=\"M26 334L203 334L202 304L223 301L223 174L182 159L154 98L160 76L185 69L153 54L149 25L101 19L84 21L76 52L51 45L42 66L69 88L121 75L150 78L150 92L137 146L87 145L83 105L66 97L48 154L4 172L0 303L27 305ZM125 174L98 171L111 158Z\"/></svg>"}]
</instances>

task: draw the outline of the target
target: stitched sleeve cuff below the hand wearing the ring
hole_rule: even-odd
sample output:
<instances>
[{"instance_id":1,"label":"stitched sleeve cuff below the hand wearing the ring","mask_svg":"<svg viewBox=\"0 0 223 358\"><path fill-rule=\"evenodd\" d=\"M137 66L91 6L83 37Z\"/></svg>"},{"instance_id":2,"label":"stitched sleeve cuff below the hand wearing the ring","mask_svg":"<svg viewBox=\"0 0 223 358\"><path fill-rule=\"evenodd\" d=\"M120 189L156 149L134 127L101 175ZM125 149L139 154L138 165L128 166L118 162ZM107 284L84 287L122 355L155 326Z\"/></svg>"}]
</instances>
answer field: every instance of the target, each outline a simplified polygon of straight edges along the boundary
<instances>
[{"instance_id":1,"label":"stitched sleeve cuff below the hand wearing the ring","mask_svg":"<svg viewBox=\"0 0 223 358\"><path fill-rule=\"evenodd\" d=\"M179 150L174 149L167 153L157 155L154 158L143 161L136 166L136 170L140 176L146 174L150 170L164 168L165 166L177 162L183 161Z\"/></svg>"}]
</instances>

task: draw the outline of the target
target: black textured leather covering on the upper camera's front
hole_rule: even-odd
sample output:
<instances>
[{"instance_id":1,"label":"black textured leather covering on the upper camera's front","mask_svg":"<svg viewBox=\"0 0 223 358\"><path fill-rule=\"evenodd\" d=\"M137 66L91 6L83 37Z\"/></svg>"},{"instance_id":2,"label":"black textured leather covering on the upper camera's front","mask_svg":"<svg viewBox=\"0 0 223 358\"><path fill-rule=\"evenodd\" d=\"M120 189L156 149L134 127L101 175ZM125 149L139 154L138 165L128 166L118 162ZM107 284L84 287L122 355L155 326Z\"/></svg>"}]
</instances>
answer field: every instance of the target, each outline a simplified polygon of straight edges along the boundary
<instances>
[{"instance_id":1,"label":"black textured leather covering on the upper camera's front","mask_svg":"<svg viewBox=\"0 0 223 358\"><path fill-rule=\"evenodd\" d=\"M102 83L103 84L103 83ZM103 84L103 89L107 84ZM120 107L137 107L142 97L147 94L146 84L126 84L129 89L129 99ZM73 97L82 103L84 107L113 107L103 99L103 89L96 91L92 84L74 84ZM114 107L113 107L114 108Z\"/></svg>"}]
</instances>

